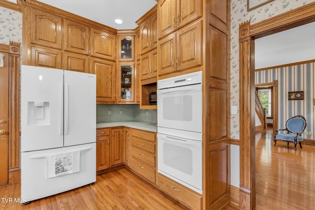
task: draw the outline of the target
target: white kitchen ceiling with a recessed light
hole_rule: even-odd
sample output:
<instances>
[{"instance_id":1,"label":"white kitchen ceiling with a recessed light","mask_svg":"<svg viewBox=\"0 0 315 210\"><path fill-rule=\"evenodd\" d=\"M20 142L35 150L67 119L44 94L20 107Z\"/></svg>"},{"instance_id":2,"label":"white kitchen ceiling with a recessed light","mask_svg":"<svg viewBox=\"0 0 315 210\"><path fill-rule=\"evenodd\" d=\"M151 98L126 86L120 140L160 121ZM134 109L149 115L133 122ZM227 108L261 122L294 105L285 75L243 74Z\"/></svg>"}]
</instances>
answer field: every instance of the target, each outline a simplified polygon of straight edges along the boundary
<instances>
[{"instance_id":1,"label":"white kitchen ceiling with a recessed light","mask_svg":"<svg viewBox=\"0 0 315 210\"><path fill-rule=\"evenodd\" d=\"M135 29L135 23L156 0L38 0L117 30ZM121 19L123 24L116 24Z\"/></svg>"}]
</instances>

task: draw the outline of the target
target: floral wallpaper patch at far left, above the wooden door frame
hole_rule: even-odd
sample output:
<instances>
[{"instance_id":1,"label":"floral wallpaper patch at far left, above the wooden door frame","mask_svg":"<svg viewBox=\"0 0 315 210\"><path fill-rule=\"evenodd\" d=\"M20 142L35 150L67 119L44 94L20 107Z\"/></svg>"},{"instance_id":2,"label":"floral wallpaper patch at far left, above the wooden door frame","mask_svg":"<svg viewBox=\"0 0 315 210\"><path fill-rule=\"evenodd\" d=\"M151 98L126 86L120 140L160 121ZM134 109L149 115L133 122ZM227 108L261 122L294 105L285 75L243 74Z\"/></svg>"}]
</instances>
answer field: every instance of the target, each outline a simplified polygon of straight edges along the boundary
<instances>
[{"instance_id":1,"label":"floral wallpaper patch at far left, above the wooden door frame","mask_svg":"<svg viewBox=\"0 0 315 210\"><path fill-rule=\"evenodd\" d=\"M22 13L0 7L0 43L22 43Z\"/></svg>"}]
</instances>

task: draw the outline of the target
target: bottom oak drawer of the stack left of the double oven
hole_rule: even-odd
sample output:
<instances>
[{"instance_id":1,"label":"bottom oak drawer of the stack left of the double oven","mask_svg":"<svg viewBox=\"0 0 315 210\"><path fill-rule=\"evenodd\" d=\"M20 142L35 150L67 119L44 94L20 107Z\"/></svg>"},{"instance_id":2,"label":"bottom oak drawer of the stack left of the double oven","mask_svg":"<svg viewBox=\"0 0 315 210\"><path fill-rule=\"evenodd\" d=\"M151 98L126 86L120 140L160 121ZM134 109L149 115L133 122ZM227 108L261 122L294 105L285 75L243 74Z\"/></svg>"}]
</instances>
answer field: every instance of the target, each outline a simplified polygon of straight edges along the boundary
<instances>
[{"instance_id":1,"label":"bottom oak drawer of the stack left of the double oven","mask_svg":"<svg viewBox=\"0 0 315 210\"><path fill-rule=\"evenodd\" d=\"M146 178L147 180L155 183L156 180L156 170L148 166L147 164L142 163L141 161L133 158L131 156L130 167L133 171Z\"/></svg>"}]
</instances>

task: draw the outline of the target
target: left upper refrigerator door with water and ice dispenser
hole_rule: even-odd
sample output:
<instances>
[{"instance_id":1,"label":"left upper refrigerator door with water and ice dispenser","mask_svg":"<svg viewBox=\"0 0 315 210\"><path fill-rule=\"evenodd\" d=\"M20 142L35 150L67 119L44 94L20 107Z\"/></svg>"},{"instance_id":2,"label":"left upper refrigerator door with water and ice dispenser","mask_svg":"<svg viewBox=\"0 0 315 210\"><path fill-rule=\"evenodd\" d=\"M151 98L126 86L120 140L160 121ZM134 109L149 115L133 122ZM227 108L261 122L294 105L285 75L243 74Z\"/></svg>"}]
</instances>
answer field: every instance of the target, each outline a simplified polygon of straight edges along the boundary
<instances>
[{"instance_id":1,"label":"left upper refrigerator door with water and ice dispenser","mask_svg":"<svg viewBox=\"0 0 315 210\"><path fill-rule=\"evenodd\" d=\"M22 65L21 151L63 147L63 71Z\"/></svg>"}]
</instances>

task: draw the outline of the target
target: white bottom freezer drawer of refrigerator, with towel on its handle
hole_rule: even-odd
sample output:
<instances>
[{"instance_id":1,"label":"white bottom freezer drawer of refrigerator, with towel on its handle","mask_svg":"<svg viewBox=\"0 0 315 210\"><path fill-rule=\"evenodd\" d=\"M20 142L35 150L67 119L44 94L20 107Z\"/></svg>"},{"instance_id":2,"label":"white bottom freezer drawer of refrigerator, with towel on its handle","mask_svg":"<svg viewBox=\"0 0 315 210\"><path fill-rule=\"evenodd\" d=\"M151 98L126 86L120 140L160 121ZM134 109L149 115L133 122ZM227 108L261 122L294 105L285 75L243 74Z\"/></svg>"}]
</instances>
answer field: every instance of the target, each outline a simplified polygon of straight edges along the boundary
<instances>
[{"instance_id":1,"label":"white bottom freezer drawer of refrigerator, with towel on its handle","mask_svg":"<svg viewBox=\"0 0 315 210\"><path fill-rule=\"evenodd\" d=\"M95 133L95 132L94 132ZM67 157L71 152L79 153L79 158L72 159L80 165L78 171L68 174L60 174L60 176L49 177L49 166L52 166L53 172L55 168L70 168L71 164L64 160L60 160L58 155L65 154ZM56 155L56 159L51 159L51 155ZM80 186L84 186L96 181L96 144L86 144L67 148L57 148L52 150L40 150L22 152L22 170L21 170L21 198L23 202L33 201L39 198L55 195L67 190L71 190ZM69 156L69 155L68 155ZM47 160L47 158L49 158ZM70 158L70 156L69 156ZM65 159L69 159L65 158ZM79 160L78 160L79 159ZM53 163L50 164L50 161ZM63 167L63 165L65 165ZM73 169L73 168L72 168ZM57 170L57 169L56 169ZM58 174L60 172L56 172Z\"/></svg>"}]
</instances>

